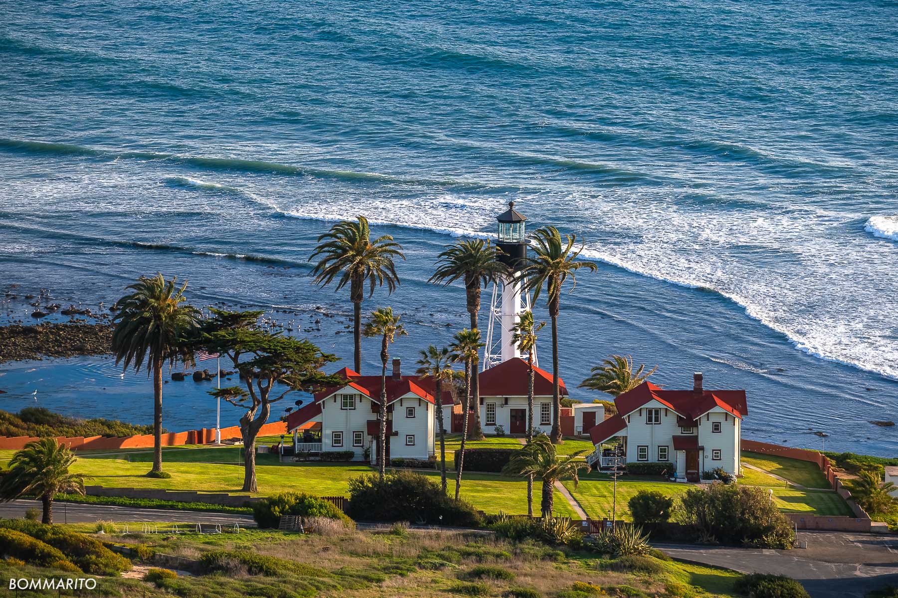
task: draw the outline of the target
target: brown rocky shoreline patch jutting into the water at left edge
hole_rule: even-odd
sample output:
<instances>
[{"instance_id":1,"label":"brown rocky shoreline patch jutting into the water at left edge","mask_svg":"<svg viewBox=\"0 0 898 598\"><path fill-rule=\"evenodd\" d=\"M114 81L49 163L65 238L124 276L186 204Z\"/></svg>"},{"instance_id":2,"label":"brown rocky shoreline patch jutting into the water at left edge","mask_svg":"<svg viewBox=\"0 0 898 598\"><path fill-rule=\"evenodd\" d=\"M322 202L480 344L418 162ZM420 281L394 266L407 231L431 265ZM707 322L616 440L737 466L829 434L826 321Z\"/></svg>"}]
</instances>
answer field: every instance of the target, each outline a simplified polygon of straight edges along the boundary
<instances>
[{"instance_id":1,"label":"brown rocky shoreline patch jutting into the water at left edge","mask_svg":"<svg viewBox=\"0 0 898 598\"><path fill-rule=\"evenodd\" d=\"M44 357L109 355L110 324L42 324L0 326L0 363Z\"/></svg>"}]
</instances>

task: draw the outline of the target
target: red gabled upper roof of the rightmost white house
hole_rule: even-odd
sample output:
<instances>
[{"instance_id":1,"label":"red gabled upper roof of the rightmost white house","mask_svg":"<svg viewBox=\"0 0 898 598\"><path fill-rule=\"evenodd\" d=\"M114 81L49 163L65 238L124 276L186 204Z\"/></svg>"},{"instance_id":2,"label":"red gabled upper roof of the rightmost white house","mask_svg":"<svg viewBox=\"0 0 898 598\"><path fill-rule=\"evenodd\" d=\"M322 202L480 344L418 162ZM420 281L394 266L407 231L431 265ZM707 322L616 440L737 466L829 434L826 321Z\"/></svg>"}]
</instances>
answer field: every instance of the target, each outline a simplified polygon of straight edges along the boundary
<instances>
[{"instance_id":1,"label":"red gabled upper roof of the rightmost white house","mask_svg":"<svg viewBox=\"0 0 898 598\"><path fill-rule=\"evenodd\" d=\"M715 407L740 419L748 414L744 390L665 390L648 381L620 394L614 399L614 404L621 415L627 415L651 401L657 401L690 420L698 419Z\"/></svg>"}]
</instances>

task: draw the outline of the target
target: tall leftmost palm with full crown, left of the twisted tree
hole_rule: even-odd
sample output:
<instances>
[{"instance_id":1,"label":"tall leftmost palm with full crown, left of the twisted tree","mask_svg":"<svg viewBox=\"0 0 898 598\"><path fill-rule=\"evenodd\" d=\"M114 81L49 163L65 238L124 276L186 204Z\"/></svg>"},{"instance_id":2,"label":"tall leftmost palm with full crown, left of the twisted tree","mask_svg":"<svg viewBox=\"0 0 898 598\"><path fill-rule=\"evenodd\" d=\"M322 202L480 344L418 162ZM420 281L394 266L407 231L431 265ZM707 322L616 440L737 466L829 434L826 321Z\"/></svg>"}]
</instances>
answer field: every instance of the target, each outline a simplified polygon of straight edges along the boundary
<instances>
[{"instance_id":1,"label":"tall leftmost palm with full crown, left of the twisted tree","mask_svg":"<svg viewBox=\"0 0 898 598\"><path fill-rule=\"evenodd\" d=\"M166 281L162 273L141 276L128 285L133 292L116 301L119 313L113 318L112 352L116 365L140 371L146 361L147 376L153 376L153 469L150 475L163 477L163 364L172 367L179 358L191 361L189 335L197 327L199 312L184 304L185 281Z\"/></svg>"}]
</instances>

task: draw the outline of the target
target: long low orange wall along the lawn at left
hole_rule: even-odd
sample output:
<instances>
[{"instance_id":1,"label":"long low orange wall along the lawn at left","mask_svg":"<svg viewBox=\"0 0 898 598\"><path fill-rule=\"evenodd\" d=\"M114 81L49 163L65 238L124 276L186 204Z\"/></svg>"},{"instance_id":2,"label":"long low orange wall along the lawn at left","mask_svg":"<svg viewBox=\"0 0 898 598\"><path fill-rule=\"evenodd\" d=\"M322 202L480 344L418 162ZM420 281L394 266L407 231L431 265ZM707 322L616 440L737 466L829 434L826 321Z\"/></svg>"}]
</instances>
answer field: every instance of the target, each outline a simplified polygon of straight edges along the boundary
<instances>
[{"instance_id":1,"label":"long low orange wall along the lawn at left","mask_svg":"<svg viewBox=\"0 0 898 598\"><path fill-rule=\"evenodd\" d=\"M240 426L222 428L222 438L240 438ZM265 424L259 430L259 436L275 436L286 434L286 423L272 421ZM0 437L0 449L19 450L29 442L39 440L29 436ZM163 446L182 445L207 445L215 442L216 430L214 428L190 429L186 432L169 432L163 434ZM72 450L112 450L116 448L150 448L154 445L152 434L126 437L57 437L59 444L69 446Z\"/></svg>"}]
</instances>

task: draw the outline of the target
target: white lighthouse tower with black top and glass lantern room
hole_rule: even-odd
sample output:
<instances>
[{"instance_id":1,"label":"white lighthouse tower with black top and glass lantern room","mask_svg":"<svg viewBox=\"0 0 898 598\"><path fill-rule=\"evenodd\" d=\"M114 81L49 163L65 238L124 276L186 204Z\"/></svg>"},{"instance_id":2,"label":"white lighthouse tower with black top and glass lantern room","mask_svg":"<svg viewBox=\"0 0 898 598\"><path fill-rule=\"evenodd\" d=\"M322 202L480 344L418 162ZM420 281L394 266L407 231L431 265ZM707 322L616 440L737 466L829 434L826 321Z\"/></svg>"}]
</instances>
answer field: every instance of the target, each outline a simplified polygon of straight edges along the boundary
<instances>
[{"instance_id":1,"label":"white lighthouse tower with black top and glass lantern room","mask_svg":"<svg viewBox=\"0 0 898 598\"><path fill-rule=\"evenodd\" d=\"M512 328L517 324L521 312L530 309L530 293L524 291L524 282L515 282L515 274L520 273L527 256L526 218L515 210L515 202L508 203L506 212L497 216L497 247L502 251L499 259L511 269L511 274L493 285L492 300L489 303L486 346L483 369L492 368L513 357L526 357L512 342ZM497 332L498 328L498 332ZM536 350L533 350L533 364L537 364Z\"/></svg>"}]
</instances>

